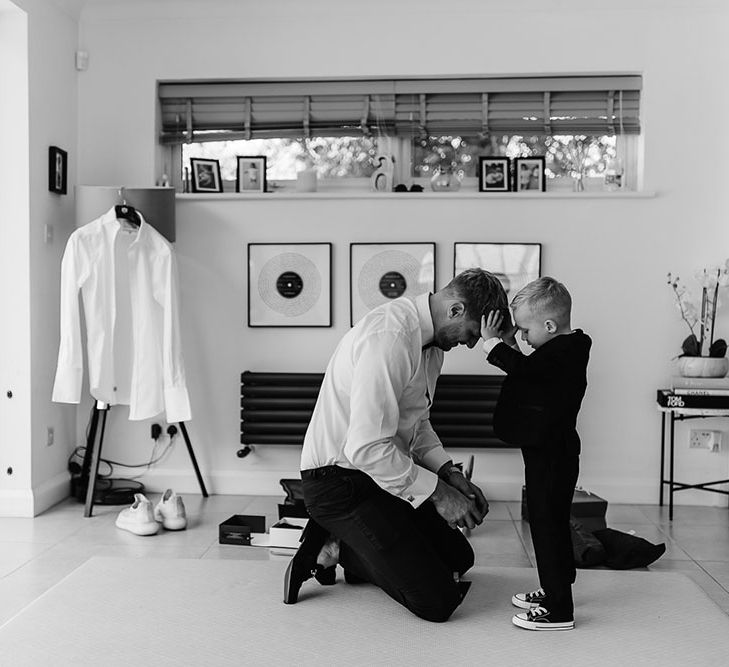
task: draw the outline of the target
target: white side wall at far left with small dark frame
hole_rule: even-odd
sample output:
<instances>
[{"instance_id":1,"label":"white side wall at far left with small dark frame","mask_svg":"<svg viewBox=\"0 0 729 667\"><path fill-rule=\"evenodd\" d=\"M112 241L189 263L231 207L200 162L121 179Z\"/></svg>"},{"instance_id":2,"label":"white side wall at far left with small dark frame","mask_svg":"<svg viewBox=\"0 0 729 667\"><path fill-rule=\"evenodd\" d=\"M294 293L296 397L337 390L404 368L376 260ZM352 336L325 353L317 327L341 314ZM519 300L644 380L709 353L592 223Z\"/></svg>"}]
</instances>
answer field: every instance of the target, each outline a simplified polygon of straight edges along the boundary
<instances>
[{"instance_id":1,"label":"white side wall at far left with small dark frame","mask_svg":"<svg viewBox=\"0 0 729 667\"><path fill-rule=\"evenodd\" d=\"M33 516L68 495L66 459L75 441L75 415L50 402L58 352L60 257L73 225L73 201L48 191L48 147L69 151L73 184L78 26L50 2L4 1L3 7L9 8L0 14L2 91L7 97L0 106L12 109L12 121L3 116L0 167L5 329L0 341L0 515ZM12 79L5 78L9 72L14 72ZM51 243L45 242L46 225L54 236ZM11 400L8 389L14 394ZM48 427L59 435L52 447L46 446ZM12 476L6 473L9 466Z\"/></svg>"}]
</instances>

